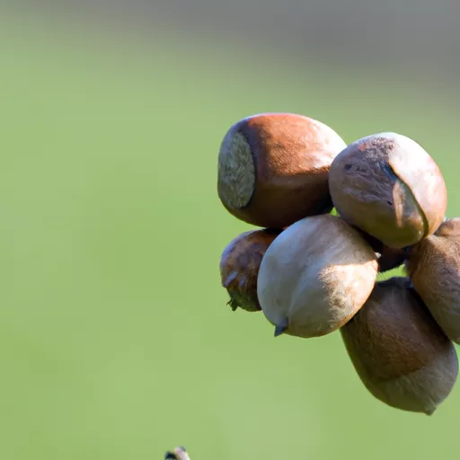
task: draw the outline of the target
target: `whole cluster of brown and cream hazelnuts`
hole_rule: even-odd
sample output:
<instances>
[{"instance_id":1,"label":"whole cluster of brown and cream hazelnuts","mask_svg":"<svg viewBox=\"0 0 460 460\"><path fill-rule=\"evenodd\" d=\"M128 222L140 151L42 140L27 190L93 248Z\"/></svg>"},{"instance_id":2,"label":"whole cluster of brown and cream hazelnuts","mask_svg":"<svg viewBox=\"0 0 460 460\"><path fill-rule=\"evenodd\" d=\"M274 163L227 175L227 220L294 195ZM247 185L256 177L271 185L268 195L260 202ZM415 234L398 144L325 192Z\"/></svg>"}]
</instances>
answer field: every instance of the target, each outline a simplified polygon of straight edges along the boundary
<instances>
[{"instance_id":1,"label":"whole cluster of brown and cream hazelnuts","mask_svg":"<svg viewBox=\"0 0 460 460\"><path fill-rule=\"evenodd\" d=\"M445 217L432 157L399 134L347 145L315 119L264 113L227 131L217 175L224 207L259 227L222 253L229 305L262 312L275 336L340 331L371 394L432 414L460 343L460 218Z\"/></svg>"}]
</instances>

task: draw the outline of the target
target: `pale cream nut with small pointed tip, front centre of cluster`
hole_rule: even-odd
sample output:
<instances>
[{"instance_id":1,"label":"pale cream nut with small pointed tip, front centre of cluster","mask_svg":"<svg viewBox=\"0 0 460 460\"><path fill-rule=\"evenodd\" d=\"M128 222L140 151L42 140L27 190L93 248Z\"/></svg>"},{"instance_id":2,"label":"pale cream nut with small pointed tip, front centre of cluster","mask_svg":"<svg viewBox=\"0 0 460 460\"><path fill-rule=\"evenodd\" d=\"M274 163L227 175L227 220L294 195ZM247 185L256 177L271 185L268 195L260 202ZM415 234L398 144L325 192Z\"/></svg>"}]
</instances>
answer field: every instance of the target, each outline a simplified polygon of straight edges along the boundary
<instances>
[{"instance_id":1,"label":"pale cream nut with small pointed tip, front centre of cluster","mask_svg":"<svg viewBox=\"0 0 460 460\"><path fill-rule=\"evenodd\" d=\"M257 293L270 323L288 335L320 337L358 312L376 282L376 253L340 217L305 217L271 243Z\"/></svg>"}]
</instances>

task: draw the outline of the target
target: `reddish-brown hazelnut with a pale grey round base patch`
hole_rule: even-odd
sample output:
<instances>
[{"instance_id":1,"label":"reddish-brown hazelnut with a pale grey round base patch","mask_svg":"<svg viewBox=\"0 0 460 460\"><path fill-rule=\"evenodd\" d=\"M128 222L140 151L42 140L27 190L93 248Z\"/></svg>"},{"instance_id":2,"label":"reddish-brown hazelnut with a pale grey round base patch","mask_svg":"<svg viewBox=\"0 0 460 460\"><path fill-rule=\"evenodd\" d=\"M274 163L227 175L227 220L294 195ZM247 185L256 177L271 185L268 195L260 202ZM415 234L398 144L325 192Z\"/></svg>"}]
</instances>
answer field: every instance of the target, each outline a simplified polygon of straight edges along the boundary
<instances>
[{"instance_id":1,"label":"reddish-brown hazelnut with a pale grey round base patch","mask_svg":"<svg viewBox=\"0 0 460 460\"><path fill-rule=\"evenodd\" d=\"M217 191L225 208L253 226L281 228L328 213L328 172L346 144L320 121L293 113L241 119L218 155Z\"/></svg>"}]
</instances>

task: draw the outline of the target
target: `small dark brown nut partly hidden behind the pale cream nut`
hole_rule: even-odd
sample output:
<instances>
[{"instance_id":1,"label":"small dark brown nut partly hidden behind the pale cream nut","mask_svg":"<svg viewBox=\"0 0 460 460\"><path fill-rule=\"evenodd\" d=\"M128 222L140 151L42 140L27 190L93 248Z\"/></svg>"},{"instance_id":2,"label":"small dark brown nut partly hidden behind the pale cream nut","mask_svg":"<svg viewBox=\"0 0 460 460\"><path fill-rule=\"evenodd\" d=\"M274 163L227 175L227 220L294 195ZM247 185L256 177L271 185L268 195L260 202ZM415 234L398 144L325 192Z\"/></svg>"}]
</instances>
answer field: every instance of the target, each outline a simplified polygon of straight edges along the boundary
<instances>
[{"instance_id":1,"label":"small dark brown nut partly hidden behind the pale cream nut","mask_svg":"<svg viewBox=\"0 0 460 460\"><path fill-rule=\"evenodd\" d=\"M265 228L240 234L227 244L220 259L220 278L233 310L261 311L257 298L257 276L263 254L281 230Z\"/></svg>"}]
</instances>

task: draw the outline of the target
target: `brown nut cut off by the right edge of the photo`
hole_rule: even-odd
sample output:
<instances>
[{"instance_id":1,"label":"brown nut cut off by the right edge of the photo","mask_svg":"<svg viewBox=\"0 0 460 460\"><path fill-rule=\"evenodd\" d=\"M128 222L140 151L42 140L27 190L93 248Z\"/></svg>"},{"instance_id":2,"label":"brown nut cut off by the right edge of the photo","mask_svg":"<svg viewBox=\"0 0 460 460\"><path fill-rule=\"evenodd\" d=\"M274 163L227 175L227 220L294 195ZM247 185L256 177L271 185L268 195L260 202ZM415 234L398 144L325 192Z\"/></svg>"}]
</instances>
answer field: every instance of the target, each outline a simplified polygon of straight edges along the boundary
<instances>
[{"instance_id":1,"label":"brown nut cut off by the right edge of the photo","mask_svg":"<svg viewBox=\"0 0 460 460\"><path fill-rule=\"evenodd\" d=\"M439 326L460 344L460 218L412 246L406 268Z\"/></svg>"}]
</instances>

